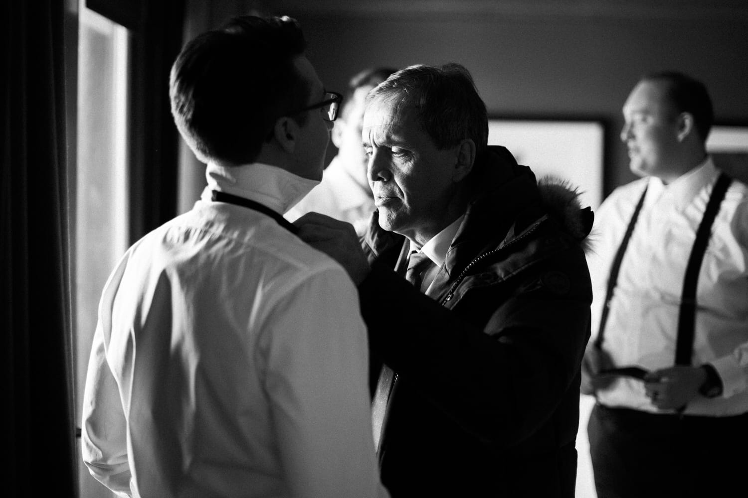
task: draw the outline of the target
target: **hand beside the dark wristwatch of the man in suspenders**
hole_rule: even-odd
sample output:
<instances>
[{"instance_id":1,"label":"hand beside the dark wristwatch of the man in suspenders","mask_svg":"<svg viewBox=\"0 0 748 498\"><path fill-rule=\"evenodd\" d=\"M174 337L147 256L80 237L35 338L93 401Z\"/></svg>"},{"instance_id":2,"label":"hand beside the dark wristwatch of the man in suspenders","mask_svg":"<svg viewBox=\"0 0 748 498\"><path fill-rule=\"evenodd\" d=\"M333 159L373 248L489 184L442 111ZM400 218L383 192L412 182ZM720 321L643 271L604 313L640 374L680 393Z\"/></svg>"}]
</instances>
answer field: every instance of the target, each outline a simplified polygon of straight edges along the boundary
<instances>
[{"instance_id":1,"label":"hand beside the dark wristwatch of the man in suspenders","mask_svg":"<svg viewBox=\"0 0 748 498\"><path fill-rule=\"evenodd\" d=\"M705 380L706 372L701 367L669 367L648 373L644 389L652 405L660 410L678 410L699 396Z\"/></svg>"}]
</instances>

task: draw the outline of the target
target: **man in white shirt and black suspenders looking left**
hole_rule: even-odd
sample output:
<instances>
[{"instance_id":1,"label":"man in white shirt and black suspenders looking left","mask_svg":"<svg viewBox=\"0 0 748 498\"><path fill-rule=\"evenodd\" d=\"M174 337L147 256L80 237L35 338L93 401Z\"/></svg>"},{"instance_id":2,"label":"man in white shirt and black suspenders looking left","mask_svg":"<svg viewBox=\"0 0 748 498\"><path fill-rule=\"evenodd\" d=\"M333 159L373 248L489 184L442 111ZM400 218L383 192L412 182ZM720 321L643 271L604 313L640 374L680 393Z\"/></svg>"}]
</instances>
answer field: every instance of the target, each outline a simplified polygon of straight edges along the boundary
<instances>
[{"instance_id":1,"label":"man in white shirt and black suspenders looking left","mask_svg":"<svg viewBox=\"0 0 748 498\"><path fill-rule=\"evenodd\" d=\"M598 498L734 496L748 444L748 187L706 153L713 111L699 81L648 75L623 115L644 178L595 215L582 391L597 398ZM621 367L643 372L604 372Z\"/></svg>"}]
</instances>

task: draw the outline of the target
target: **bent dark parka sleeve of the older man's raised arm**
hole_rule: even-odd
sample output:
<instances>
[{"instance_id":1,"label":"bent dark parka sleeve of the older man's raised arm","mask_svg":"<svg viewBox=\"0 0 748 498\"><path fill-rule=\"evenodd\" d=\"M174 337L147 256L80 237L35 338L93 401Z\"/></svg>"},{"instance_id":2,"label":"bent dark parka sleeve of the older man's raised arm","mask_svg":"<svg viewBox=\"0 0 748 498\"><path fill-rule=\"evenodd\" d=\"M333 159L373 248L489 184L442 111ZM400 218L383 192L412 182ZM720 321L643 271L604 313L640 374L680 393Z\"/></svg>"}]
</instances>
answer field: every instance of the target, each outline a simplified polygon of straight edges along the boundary
<instances>
[{"instance_id":1,"label":"bent dark parka sleeve of the older man's raised arm","mask_svg":"<svg viewBox=\"0 0 748 498\"><path fill-rule=\"evenodd\" d=\"M485 326L379 264L359 287L373 352L436 410L498 446L523 441L547 422L578 384L589 340L592 293L581 249L514 278L503 295L486 287L462 296L468 310L476 300L491 308Z\"/></svg>"}]
</instances>

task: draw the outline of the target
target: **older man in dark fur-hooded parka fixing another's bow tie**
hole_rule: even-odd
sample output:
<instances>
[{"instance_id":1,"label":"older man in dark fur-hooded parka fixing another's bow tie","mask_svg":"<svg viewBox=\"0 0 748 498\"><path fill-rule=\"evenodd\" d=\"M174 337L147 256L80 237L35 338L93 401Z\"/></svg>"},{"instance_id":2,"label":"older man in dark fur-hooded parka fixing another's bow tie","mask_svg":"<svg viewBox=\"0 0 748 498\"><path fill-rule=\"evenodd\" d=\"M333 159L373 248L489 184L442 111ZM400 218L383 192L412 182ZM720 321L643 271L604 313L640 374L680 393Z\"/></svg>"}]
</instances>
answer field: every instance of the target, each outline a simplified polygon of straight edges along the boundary
<instances>
[{"instance_id":1,"label":"older man in dark fur-hooded parka fixing another's bow tie","mask_svg":"<svg viewBox=\"0 0 748 498\"><path fill-rule=\"evenodd\" d=\"M298 225L358 284L384 362L382 482L393 497L573 497L592 213L488 147L459 64L378 85L363 137L378 208L363 249L351 225Z\"/></svg>"}]
</instances>

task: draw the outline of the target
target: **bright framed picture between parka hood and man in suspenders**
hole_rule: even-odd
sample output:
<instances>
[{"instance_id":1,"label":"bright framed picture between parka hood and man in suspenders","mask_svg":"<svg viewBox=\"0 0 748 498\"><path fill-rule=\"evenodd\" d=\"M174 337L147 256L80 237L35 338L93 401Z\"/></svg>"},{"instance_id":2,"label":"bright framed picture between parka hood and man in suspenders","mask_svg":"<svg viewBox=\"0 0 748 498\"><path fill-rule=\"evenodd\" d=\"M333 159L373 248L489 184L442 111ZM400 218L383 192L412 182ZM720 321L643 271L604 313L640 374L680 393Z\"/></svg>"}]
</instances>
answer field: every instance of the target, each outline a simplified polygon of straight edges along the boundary
<instances>
[{"instance_id":1,"label":"bright framed picture between parka hood and man in suspenders","mask_svg":"<svg viewBox=\"0 0 748 498\"><path fill-rule=\"evenodd\" d=\"M604 126L598 121L488 119L488 145L505 146L538 179L552 175L598 208L603 193Z\"/></svg>"}]
</instances>

